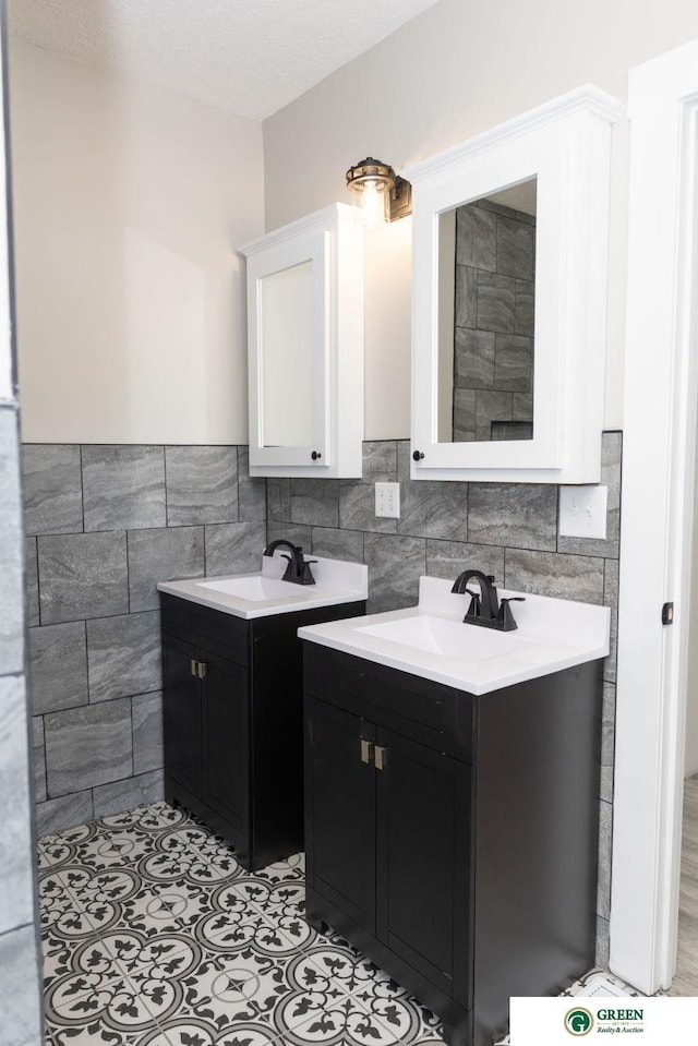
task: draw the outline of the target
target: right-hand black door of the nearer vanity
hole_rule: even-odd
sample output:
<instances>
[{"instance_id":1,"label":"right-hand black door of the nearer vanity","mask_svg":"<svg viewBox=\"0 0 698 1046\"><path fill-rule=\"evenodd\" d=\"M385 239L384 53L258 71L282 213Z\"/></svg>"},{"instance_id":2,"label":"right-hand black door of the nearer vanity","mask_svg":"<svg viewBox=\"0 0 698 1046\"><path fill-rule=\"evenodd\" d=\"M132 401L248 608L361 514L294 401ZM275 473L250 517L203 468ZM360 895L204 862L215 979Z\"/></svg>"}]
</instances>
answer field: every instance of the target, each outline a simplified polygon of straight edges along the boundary
<instances>
[{"instance_id":1,"label":"right-hand black door of the nearer vanity","mask_svg":"<svg viewBox=\"0 0 698 1046\"><path fill-rule=\"evenodd\" d=\"M457 822L457 764L382 729L375 766L376 936L452 995L465 886L458 837L469 828Z\"/></svg>"}]
</instances>

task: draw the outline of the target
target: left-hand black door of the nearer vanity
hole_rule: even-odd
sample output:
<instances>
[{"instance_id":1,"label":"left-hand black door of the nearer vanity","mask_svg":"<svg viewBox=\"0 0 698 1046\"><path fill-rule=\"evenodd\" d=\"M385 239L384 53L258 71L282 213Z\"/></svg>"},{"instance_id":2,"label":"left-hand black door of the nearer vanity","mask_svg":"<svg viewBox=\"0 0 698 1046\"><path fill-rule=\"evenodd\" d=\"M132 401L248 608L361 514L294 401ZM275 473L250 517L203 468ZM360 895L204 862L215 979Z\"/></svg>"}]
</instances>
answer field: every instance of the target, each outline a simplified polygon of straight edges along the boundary
<instances>
[{"instance_id":1,"label":"left-hand black door of the nearer vanity","mask_svg":"<svg viewBox=\"0 0 698 1046\"><path fill-rule=\"evenodd\" d=\"M306 698L309 882L354 923L375 928L375 726Z\"/></svg>"}]
</instances>

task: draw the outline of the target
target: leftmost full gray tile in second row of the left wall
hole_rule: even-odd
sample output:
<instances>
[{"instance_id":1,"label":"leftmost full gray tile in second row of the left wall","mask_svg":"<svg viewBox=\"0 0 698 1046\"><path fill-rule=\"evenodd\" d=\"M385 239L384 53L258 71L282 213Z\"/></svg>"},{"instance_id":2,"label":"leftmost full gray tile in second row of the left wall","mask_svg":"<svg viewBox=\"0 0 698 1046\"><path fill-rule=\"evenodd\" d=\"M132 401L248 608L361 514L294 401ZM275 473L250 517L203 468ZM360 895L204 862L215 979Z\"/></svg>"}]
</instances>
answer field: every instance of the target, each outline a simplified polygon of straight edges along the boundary
<instances>
[{"instance_id":1,"label":"leftmost full gray tile in second row of the left wall","mask_svg":"<svg viewBox=\"0 0 698 1046\"><path fill-rule=\"evenodd\" d=\"M39 538L38 553L44 625L128 612L123 530Z\"/></svg>"}]
</instances>

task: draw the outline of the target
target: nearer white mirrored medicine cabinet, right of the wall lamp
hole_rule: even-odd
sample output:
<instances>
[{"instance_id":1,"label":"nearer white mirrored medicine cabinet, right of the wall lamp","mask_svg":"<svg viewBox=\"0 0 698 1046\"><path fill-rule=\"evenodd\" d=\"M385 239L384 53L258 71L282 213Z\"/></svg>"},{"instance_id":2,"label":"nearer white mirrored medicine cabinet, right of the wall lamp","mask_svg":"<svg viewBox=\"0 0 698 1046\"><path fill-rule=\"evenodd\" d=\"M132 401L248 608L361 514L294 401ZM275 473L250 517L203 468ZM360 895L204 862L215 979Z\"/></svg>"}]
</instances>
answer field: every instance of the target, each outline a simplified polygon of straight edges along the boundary
<instances>
[{"instance_id":1,"label":"nearer white mirrored medicine cabinet, right of the wall lamp","mask_svg":"<svg viewBox=\"0 0 698 1046\"><path fill-rule=\"evenodd\" d=\"M405 171L412 478L600 478L611 127L583 87Z\"/></svg>"}]
</instances>

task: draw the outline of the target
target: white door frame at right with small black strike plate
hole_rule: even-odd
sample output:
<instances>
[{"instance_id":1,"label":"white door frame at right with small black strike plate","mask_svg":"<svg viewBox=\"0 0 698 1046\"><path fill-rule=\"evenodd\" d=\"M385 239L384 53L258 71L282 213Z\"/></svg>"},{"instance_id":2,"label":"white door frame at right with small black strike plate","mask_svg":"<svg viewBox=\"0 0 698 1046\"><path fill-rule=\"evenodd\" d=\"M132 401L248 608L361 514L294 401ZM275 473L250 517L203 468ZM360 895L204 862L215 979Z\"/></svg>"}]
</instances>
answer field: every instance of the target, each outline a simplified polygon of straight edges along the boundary
<instances>
[{"instance_id":1,"label":"white door frame at right with small black strike plate","mask_svg":"<svg viewBox=\"0 0 698 1046\"><path fill-rule=\"evenodd\" d=\"M696 464L698 40L630 71L610 967L676 965ZM651 365L649 365L651 363ZM674 624L662 606L674 604Z\"/></svg>"}]
</instances>

